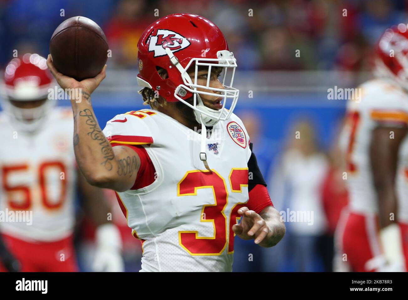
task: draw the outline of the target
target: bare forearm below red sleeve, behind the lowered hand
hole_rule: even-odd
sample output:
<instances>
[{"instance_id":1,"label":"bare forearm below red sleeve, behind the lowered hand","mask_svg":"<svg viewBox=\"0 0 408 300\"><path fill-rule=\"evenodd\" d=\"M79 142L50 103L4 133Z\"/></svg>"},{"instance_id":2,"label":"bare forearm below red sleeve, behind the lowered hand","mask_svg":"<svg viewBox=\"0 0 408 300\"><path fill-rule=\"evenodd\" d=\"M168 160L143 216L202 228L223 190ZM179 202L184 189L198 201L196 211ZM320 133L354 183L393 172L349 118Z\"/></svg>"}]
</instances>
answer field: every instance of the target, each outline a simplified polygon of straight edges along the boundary
<instances>
[{"instance_id":1,"label":"bare forearm below red sleeve, behind the lowered hand","mask_svg":"<svg viewBox=\"0 0 408 300\"><path fill-rule=\"evenodd\" d=\"M265 220L271 231L271 234L268 235L269 238L265 238L260 245L266 248L273 247L284 237L286 233L285 223L275 209L264 209L259 216Z\"/></svg>"}]
</instances>

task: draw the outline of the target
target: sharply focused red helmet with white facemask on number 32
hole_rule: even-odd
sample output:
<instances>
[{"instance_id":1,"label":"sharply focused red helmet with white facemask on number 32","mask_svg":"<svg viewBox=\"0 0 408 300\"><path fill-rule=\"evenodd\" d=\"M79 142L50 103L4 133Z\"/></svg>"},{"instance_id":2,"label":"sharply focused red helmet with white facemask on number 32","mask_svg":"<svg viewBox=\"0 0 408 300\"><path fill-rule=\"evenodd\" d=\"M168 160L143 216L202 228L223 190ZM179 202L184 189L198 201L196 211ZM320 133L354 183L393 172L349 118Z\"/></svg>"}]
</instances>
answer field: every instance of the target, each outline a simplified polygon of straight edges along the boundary
<instances>
[{"instance_id":1,"label":"sharply focused red helmet with white facemask on number 32","mask_svg":"<svg viewBox=\"0 0 408 300\"><path fill-rule=\"evenodd\" d=\"M191 13L176 13L160 18L142 33L137 44L139 74L137 82L142 87L158 91L166 101L181 101L195 111L197 122L212 126L219 120L231 116L238 100L237 89L232 87L235 68L237 67L233 53L220 29L211 21ZM195 76L191 78L187 70L195 66ZM197 85L199 66L208 67L206 85ZM212 67L222 67L223 89L209 87ZM168 78L163 79L157 69L165 69ZM231 75L227 76L227 71ZM226 84L228 78L229 84ZM197 91L197 88L210 92ZM220 110L206 107L200 95L223 97ZM186 99L193 96L190 104ZM229 110L225 109L227 99L232 99Z\"/></svg>"}]
</instances>

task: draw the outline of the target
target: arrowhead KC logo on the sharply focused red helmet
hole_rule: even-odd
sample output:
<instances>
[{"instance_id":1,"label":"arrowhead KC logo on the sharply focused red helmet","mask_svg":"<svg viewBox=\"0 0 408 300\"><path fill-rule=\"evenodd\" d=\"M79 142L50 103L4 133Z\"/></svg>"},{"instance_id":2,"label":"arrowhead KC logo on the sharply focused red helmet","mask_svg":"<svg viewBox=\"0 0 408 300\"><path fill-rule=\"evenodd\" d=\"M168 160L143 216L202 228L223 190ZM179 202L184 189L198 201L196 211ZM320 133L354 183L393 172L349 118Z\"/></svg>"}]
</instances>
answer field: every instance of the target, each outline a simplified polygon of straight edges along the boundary
<instances>
[{"instance_id":1,"label":"arrowhead KC logo on the sharply focused red helmet","mask_svg":"<svg viewBox=\"0 0 408 300\"><path fill-rule=\"evenodd\" d=\"M154 51L154 57L166 55L166 48L176 52L190 46L190 42L180 34L166 30L157 29L156 34L150 37L149 52Z\"/></svg>"}]
</instances>

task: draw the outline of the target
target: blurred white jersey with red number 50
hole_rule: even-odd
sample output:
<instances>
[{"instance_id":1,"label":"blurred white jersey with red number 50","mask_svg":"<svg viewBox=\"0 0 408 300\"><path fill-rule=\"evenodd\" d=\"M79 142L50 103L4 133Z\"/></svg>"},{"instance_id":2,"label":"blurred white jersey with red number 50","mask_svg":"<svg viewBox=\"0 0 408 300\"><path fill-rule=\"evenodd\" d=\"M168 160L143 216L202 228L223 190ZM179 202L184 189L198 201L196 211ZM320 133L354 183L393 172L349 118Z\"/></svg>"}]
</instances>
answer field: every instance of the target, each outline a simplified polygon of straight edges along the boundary
<instances>
[{"instance_id":1,"label":"blurred white jersey with red number 50","mask_svg":"<svg viewBox=\"0 0 408 300\"><path fill-rule=\"evenodd\" d=\"M4 112L0 128L0 231L28 241L66 238L76 181L71 109L55 108L35 135L18 131ZM25 212L13 220L18 211Z\"/></svg>"}]
</instances>

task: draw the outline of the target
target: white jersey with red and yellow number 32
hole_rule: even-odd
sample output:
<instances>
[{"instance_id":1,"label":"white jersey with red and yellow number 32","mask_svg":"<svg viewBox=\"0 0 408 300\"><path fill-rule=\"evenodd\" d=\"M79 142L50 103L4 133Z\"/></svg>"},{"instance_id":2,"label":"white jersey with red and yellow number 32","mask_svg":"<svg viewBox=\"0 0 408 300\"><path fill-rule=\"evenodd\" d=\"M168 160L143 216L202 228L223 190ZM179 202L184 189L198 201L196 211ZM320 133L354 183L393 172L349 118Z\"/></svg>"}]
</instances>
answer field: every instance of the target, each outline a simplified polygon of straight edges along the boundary
<instances>
[{"instance_id":1,"label":"white jersey with red and yellow number 32","mask_svg":"<svg viewBox=\"0 0 408 300\"><path fill-rule=\"evenodd\" d=\"M143 144L156 180L118 192L132 234L142 240L141 271L232 271L237 210L248 201L249 137L234 114L206 139L164 113L131 111L107 122L111 143Z\"/></svg>"}]
</instances>

